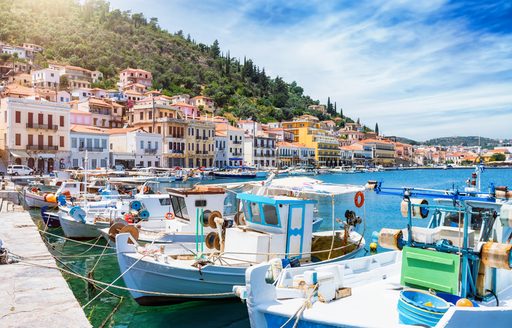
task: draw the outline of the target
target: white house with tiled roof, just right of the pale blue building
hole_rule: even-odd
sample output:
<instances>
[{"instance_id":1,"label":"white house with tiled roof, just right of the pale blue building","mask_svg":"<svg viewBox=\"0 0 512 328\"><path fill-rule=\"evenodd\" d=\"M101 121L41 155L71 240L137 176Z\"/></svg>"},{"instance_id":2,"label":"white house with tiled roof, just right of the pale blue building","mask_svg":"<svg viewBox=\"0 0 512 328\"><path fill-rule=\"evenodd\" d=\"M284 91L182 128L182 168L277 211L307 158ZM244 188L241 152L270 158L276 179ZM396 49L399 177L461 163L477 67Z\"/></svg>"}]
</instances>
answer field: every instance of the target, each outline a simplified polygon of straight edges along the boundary
<instances>
[{"instance_id":1,"label":"white house with tiled roof, just right of the pale blue building","mask_svg":"<svg viewBox=\"0 0 512 328\"><path fill-rule=\"evenodd\" d=\"M138 128L110 130L112 165L126 168L161 166L162 136Z\"/></svg>"}]
</instances>

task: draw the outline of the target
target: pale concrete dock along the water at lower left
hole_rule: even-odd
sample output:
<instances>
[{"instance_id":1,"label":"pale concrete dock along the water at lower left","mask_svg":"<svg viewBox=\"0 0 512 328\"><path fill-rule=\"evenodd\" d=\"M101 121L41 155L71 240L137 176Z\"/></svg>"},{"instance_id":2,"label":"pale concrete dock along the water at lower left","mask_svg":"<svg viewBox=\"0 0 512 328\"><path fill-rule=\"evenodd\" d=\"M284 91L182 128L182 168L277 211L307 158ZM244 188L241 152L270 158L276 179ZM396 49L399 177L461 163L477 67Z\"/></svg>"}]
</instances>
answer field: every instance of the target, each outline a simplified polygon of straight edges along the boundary
<instances>
[{"instance_id":1,"label":"pale concrete dock along the water at lower left","mask_svg":"<svg viewBox=\"0 0 512 328\"><path fill-rule=\"evenodd\" d=\"M32 263L0 265L0 327L91 327L30 214L0 205L3 247Z\"/></svg>"}]
</instances>

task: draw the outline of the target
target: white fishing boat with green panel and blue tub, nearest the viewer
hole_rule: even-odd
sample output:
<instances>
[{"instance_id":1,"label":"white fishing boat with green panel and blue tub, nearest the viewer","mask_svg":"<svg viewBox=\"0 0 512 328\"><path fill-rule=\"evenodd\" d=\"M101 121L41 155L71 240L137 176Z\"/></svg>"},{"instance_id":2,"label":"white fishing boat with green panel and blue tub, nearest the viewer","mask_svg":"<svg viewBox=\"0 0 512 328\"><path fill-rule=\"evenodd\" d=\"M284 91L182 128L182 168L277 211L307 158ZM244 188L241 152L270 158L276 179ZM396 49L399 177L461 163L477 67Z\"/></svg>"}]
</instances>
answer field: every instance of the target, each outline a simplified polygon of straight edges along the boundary
<instances>
[{"instance_id":1,"label":"white fishing boat with green panel and blue tub, nearest the viewer","mask_svg":"<svg viewBox=\"0 0 512 328\"><path fill-rule=\"evenodd\" d=\"M393 251L310 267L249 268L235 292L251 326L510 327L512 205L458 192L401 195L407 228L375 233ZM418 196L439 199L428 205ZM429 211L429 226L414 227L412 219Z\"/></svg>"}]
</instances>

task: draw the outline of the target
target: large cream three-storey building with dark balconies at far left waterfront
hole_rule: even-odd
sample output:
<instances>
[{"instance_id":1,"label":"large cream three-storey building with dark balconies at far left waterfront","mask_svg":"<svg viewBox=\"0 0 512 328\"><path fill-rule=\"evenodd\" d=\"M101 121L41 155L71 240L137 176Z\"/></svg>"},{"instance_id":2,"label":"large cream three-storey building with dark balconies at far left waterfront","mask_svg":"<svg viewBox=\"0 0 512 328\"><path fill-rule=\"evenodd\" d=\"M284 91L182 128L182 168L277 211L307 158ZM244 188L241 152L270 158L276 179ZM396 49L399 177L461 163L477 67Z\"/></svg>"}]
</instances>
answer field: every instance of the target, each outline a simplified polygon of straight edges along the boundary
<instances>
[{"instance_id":1,"label":"large cream three-storey building with dark balconies at far left waterfront","mask_svg":"<svg viewBox=\"0 0 512 328\"><path fill-rule=\"evenodd\" d=\"M68 104L10 97L0 102L4 165L26 164L44 172L69 166Z\"/></svg>"}]
</instances>

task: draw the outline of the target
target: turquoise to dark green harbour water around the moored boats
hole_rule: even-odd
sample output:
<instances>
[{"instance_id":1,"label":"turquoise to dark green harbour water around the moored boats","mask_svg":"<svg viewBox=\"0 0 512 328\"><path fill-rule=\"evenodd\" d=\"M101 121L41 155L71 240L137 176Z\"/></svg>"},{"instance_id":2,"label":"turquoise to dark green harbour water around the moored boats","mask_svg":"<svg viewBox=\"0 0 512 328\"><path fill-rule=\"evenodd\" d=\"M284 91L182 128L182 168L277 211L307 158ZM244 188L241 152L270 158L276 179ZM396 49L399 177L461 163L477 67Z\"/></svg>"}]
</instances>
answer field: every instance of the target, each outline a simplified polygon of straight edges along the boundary
<instances>
[{"instance_id":1,"label":"turquoise to dark green harbour water around the moored boats","mask_svg":"<svg viewBox=\"0 0 512 328\"><path fill-rule=\"evenodd\" d=\"M383 186L403 187L414 186L423 188L446 189L464 187L464 181L471 175L472 170L413 170L413 171L388 171L361 174L319 175L314 178L332 183L365 184L368 180L383 182ZM229 180L221 180L230 182ZM212 181L215 183L217 181ZM488 169L482 177L482 188L485 189L493 182L496 185L512 185L512 169ZM485 188L484 188L485 187ZM318 216L325 218L323 228L330 227L330 199L318 199ZM228 203L233 202L228 200ZM364 233L369 242L373 231L382 227L402 228L405 219L400 215L400 198L395 196L376 195L373 192L366 194L365 206L356 209L353 196L339 196L335 199L336 217L343 217L345 210L355 210L364 217L364 225L358 230ZM34 212L34 217L37 213ZM418 225L427 224L427 220L417 222ZM60 229L53 229L52 233L61 235ZM115 256L112 250L106 250L105 256L98 257L103 251L101 247L94 247L90 251L87 245L77 245L71 242L63 242L57 237L52 237L49 242L53 245L52 252L60 257L62 263L74 272L87 275L95 267L92 276L94 279L110 283L120 274ZM103 241L100 245L105 245ZM65 257L63 254L80 254L87 251L85 257ZM96 255L96 256L94 256ZM98 261L99 259L99 261ZM70 284L75 296L81 305L86 304L98 294L92 286L83 280L64 275ZM119 283L122 285L122 282ZM142 307L133 301L124 291L112 289L112 292L120 298L103 293L96 301L87 306L84 311L95 327L104 324L106 327L190 327L200 325L202 327L248 327L247 310L239 300L233 301L201 301L188 302L179 305ZM116 310L117 308L117 310ZM114 311L115 310L115 311ZM111 315L111 316L110 316Z\"/></svg>"}]
</instances>

